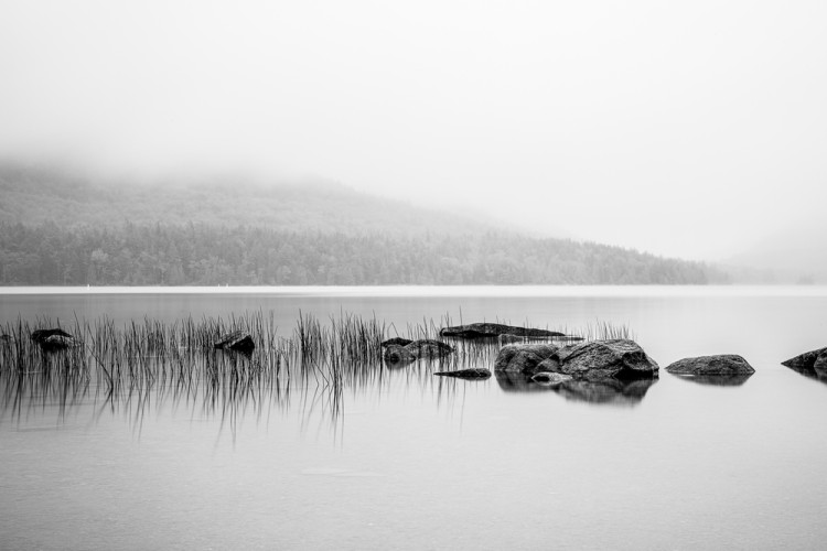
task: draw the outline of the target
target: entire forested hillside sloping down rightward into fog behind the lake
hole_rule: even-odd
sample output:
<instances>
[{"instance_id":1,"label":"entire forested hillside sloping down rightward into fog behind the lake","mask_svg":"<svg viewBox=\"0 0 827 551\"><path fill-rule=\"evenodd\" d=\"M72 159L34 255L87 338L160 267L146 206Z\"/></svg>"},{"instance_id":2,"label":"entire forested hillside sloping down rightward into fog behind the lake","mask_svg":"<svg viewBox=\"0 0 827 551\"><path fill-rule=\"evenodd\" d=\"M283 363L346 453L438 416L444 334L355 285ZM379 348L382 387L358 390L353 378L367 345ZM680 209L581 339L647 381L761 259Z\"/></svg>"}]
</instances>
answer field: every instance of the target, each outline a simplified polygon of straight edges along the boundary
<instances>
[{"instance_id":1,"label":"entire forested hillside sloping down rightward into fog behind the lake","mask_svg":"<svg viewBox=\"0 0 827 551\"><path fill-rule=\"evenodd\" d=\"M369 197L334 184L125 185L0 168L0 284L722 281L709 267Z\"/></svg>"}]
</instances>

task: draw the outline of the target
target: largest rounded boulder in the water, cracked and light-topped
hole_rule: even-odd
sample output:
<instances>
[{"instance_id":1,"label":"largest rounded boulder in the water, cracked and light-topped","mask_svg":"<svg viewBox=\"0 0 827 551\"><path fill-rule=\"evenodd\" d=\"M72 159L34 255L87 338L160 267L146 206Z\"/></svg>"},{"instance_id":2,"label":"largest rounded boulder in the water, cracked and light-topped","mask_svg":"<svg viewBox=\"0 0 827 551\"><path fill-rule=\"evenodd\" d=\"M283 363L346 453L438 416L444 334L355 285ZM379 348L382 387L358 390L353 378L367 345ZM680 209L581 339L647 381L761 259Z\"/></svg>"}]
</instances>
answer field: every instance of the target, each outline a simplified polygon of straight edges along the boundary
<instances>
[{"instance_id":1,"label":"largest rounded boulder in the water, cracked and light-topped","mask_svg":"<svg viewBox=\"0 0 827 551\"><path fill-rule=\"evenodd\" d=\"M559 348L538 367L540 371L570 375L576 379L653 379L658 366L634 341L591 341Z\"/></svg>"}]
</instances>

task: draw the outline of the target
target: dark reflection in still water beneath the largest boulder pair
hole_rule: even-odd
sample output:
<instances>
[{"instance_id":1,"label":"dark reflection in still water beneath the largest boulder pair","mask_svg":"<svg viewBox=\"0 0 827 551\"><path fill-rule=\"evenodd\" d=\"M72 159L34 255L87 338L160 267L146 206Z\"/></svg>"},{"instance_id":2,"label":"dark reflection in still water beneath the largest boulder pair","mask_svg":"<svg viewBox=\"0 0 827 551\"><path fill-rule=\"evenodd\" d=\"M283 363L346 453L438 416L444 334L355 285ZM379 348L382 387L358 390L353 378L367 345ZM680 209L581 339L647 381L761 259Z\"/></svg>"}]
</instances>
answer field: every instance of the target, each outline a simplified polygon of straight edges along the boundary
<instances>
[{"instance_id":1,"label":"dark reflection in still water beneath the largest boulder pair","mask_svg":"<svg viewBox=\"0 0 827 551\"><path fill-rule=\"evenodd\" d=\"M648 389L657 379L637 380L567 380L556 385L543 385L519 372L496 371L497 383L506 392L544 392L550 391L562 396L567 400L634 406L643 400Z\"/></svg>"}]
</instances>

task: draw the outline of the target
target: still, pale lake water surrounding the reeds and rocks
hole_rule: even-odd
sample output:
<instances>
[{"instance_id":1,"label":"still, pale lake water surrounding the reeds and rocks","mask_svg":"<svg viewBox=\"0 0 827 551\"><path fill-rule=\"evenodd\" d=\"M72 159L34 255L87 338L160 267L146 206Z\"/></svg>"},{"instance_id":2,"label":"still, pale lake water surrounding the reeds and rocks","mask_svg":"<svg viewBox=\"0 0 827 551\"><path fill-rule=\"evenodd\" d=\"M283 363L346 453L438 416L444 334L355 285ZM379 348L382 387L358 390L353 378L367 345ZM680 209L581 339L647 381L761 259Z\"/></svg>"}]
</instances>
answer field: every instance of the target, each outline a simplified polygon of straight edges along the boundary
<instances>
[{"instance_id":1,"label":"still, pale lake water surrounding the reeds and rocks","mask_svg":"<svg viewBox=\"0 0 827 551\"><path fill-rule=\"evenodd\" d=\"M827 346L827 288L6 289L0 323L261 312L626 326L660 366L589 401L426 361L236 397L0 393L2 549L816 549L827 385L780 363ZM740 354L733 386L666 372ZM488 367L493 366L479 366ZM8 369L8 366L3 366ZM230 403L230 407L228 407Z\"/></svg>"}]
</instances>

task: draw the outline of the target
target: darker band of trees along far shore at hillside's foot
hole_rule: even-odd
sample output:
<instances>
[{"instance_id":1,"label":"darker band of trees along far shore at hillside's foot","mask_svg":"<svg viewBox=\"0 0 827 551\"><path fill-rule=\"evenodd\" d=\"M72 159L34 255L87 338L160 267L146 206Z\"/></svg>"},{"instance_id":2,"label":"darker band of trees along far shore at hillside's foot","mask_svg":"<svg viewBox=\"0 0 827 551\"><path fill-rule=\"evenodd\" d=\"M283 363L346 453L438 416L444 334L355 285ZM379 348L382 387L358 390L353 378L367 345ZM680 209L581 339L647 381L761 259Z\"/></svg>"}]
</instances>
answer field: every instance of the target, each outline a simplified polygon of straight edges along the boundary
<instances>
[{"instance_id":1,"label":"darker band of trees along far shore at hillside's foot","mask_svg":"<svg viewBox=\"0 0 827 551\"><path fill-rule=\"evenodd\" d=\"M3 285L705 284L700 263L568 239L0 223Z\"/></svg>"}]
</instances>

